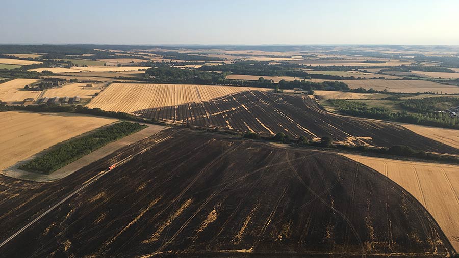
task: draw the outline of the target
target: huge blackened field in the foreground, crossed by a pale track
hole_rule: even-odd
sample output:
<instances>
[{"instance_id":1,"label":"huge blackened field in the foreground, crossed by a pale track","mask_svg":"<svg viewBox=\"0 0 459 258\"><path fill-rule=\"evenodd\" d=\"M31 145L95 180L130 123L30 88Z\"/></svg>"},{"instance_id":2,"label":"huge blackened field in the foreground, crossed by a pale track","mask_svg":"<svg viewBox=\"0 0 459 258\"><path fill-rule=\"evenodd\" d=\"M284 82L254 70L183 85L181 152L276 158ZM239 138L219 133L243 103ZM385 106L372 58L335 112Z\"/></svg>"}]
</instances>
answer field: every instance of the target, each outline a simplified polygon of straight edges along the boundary
<instances>
[{"instance_id":1,"label":"huge blackened field in the foreground, crossed by a pale track","mask_svg":"<svg viewBox=\"0 0 459 258\"><path fill-rule=\"evenodd\" d=\"M397 184L337 154L169 129L60 181L0 177L2 257L447 257Z\"/></svg>"}]
</instances>

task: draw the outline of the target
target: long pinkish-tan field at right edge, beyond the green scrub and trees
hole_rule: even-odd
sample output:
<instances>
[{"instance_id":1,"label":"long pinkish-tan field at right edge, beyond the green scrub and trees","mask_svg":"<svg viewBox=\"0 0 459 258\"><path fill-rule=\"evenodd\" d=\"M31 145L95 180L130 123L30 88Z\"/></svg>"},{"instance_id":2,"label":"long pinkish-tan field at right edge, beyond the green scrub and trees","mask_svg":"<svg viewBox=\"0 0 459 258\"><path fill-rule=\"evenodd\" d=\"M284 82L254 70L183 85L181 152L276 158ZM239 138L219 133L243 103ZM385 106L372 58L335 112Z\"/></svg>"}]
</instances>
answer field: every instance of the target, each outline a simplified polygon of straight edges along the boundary
<instances>
[{"instance_id":1,"label":"long pinkish-tan field at right edge, beyond the green scrub and trees","mask_svg":"<svg viewBox=\"0 0 459 258\"><path fill-rule=\"evenodd\" d=\"M341 80L349 85L349 88L365 88L389 92L438 92L438 93L459 93L459 87L453 85L443 85L426 80Z\"/></svg>"}]
</instances>

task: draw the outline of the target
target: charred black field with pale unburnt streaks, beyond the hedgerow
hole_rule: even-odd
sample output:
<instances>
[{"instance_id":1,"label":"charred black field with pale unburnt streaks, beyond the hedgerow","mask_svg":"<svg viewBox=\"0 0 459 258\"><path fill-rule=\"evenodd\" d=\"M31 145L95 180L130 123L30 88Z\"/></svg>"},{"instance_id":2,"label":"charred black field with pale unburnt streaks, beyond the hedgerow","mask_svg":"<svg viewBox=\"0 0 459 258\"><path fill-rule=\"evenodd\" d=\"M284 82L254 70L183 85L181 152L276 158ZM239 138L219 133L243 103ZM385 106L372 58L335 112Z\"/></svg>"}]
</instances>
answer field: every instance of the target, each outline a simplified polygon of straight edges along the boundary
<instances>
[{"instance_id":1,"label":"charred black field with pale unburnt streaks, beyond the hedgerow","mask_svg":"<svg viewBox=\"0 0 459 258\"><path fill-rule=\"evenodd\" d=\"M295 138L306 136L310 139L329 135L343 144L406 145L424 151L459 154L456 148L396 124L327 113L307 96L251 91L212 101L145 109L136 113L151 119L241 132L265 135L282 132Z\"/></svg>"}]
</instances>

